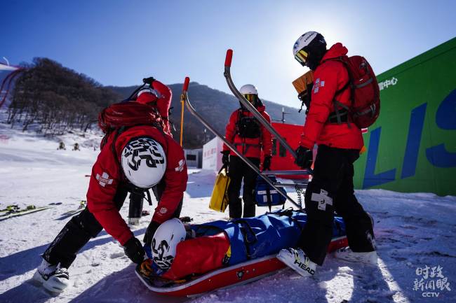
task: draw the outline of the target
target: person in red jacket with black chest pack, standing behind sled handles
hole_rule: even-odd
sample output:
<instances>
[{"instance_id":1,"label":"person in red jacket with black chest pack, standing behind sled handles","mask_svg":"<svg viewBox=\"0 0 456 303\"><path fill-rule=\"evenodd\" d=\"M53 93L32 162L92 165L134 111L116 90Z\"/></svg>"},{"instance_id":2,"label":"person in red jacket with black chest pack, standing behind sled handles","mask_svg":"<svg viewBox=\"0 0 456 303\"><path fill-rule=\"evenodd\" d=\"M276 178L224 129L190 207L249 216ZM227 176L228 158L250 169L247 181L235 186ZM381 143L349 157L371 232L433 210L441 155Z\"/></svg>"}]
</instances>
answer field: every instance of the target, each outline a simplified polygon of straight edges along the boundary
<instances>
[{"instance_id":1,"label":"person in red jacket with black chest pack, standing behind sled handles","mask_svg":"<svg viewBox=\"0 0 456 303\"><path fill-rule=\"evenodd\" d=\"M255 86L246 84L239 90L251 104L257 108L261 115L270 123L271 118L264 111L264 105L258 98L258 92ZM260 157L263 151L264 160L262 169L271 167L271 134L265 129L260 122L256 120L252 113L241 104L241 108L236 109L229 117L226 127L225 138L236 146L236 149L255 164L260 167ZM229 178L231 179L228 186L228 205L229 218L248 218L255 216L255 183L257 174L253 169L248 167L233 151L230 151L226 144L223 145L222 162L229 165ZM239 191L241 183L243 186L243 212Z\"/></svg>"}]
</instances>

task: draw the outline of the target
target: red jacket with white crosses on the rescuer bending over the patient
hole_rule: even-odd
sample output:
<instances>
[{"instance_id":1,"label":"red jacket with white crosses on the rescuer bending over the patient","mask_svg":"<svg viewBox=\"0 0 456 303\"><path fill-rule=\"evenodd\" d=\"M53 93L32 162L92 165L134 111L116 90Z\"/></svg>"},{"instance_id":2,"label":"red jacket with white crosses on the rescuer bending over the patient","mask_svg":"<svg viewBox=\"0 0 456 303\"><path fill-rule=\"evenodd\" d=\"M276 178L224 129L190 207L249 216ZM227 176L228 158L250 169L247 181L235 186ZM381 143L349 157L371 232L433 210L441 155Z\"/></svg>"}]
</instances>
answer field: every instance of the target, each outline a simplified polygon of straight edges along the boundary
<instances>
[{"instance_id":1,"label":"red jacket with white crosses on the rescuer bending over the patient","mask_svg":"<svg viewBox=\"0 0 456 303\"><path fill-rule=\"evenodd\" d=\"M152 220L157 223L170 219L177 209L187 188L187 165L184 160L184 150L180 145L155 127L136 126L121 133L115 142L117 159L112 150L115 135L116 132L110 134L93 165L87 192L87 206L106 232L123 245L133 237L133 233L117 211L113 201L117 187L127 182L120 164L123 148L132 139L140 137L152 138L163 146L166 153L166 171L163 176L166 187L152 217Z\"/></svg>"}]
</instances>

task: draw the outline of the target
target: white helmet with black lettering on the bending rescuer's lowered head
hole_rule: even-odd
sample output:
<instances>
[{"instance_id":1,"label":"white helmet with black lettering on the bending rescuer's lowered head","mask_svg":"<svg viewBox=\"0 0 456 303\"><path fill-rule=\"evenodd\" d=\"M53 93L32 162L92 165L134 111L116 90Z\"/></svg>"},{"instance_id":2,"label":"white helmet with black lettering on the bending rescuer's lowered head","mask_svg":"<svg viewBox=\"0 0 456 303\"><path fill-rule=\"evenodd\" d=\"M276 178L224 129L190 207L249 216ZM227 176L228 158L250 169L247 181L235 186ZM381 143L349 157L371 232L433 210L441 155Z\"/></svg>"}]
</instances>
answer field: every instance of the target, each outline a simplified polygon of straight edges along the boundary
<instances>
[{"instance_id":1,"label":"white helmet with black lettering on the bending rescuer's lowered head","mask_svg":"<svg viewBox=\"0 0 456 303\"><path fill-rule=\"evenodd\" d=\"M122 152L122 169L128 181L138 188L152 188L166 171L166 154L154 139L130 141Z\"/></svg>"}]
</instances>

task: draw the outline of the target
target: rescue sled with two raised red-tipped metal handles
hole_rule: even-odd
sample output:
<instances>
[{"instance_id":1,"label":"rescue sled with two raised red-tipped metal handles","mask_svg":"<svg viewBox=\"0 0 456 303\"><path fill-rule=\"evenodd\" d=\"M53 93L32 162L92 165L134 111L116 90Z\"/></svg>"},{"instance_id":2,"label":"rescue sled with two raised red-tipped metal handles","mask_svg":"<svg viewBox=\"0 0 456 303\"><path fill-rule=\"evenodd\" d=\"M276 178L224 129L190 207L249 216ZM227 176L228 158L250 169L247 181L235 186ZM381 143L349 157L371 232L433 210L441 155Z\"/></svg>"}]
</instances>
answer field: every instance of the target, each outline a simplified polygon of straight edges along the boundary
<instances>
[{"instance_id":1,"label":"rescue sled with two raised red-tipped metal handles","mask_svg":"<svg viewBox=\"0 0 456 303\"><path fill-rule=\"evenodd\" d=\"M255 113L257 113L256 109L249 108L248 105L250 104L248 103L248 101L243 98L243 96L234 86L234 83L232 83L229 71L231 61L232 50L229 50L227 52L227 58L224 65L224 76L225 78L227 78L229 88L232 90L232 92L234 92L234 95L239 99L239 101L241 101L241 103L243 103L244 105L247 105L246 107L248 108L248 110L252 112L253 115L255 115ZM243 157L243 155L241 155L238 152L238 150L232 145L232 143L227 141L222 134L217 132L217 130L214 127L212 127L212 125L210 125L193 108L187 95L188 87L189 78L187 77L185 78L185 83L181 95L182 106L186 104L190 113L194 115L197 118L197 120L199 120L211 132L213 132L215 136L218 136L220 139L222 139L222 141L233 151L233 153L235 153L239 158L241 158L241 160L246 162L248 167L253 169L253 171L255 171L257 175L264 180L265 183L269 184L271 188L274 188L274 190L277 190L279 195L282 195L289 202L297 206L300 209L300 211L296 212L292 210L291 212L296 216L301 216L301 220L303 220L302 216L305 215L302 215L301 195L304 194L304 188L307 187L307 182L281 183L271 181L271 179L266 174L262 173L259 169L257 169L257 167L255 167L255 165L252 164L250 160L248 160L248 158ZM293 157L296 157L295 151L288 145L285 139L283 139L283 137L281 137L280 134L276 132L276 130L273 127L271 127L271 125L269 125L267 121L263 121L264 119L262 120L262 117L257 117L257 115L255 115L255 117L260 121L260 123L262 123L262 125L264 125L264 127L266 127L266 129L269 130L269 132L271 132L271 134L273 134L283 144L283 146L286 147L286 149L290 152L291 155L293 155ZM311 171L268 171L267 174L311 174ZM287 195L286 191L281 190L281 188L283 187L295 188L298 194L298 201L295 202L290 196ZM286 213L290 212L290 210L282 210L282 212ZM299 213L301 213L301 215ZM265 215L259 217L268 216L268 214L273 216L278 215L278 213L266 213ZM197 253L199 250L194 249L194 246L191 246L192 248L189 248L188 250L182 250L182 252L187 253L187 255L185 255L185 257L182 257L181 259L186 260L188 266L184 267L182 266L182 264L178 265L179 262L177 259L180 256L180 245L187 242L182 241L180 242L180 244L177 244L177 253L173 261L173 265L171 265L171 268L168 270L168 272L163 274L163 276L166 276L168 273L173 272L173 267L186 269L187 274L176 276L175 279L163 279L162 276L151 274L150 266L152 266L152 260L150 259L143 262L142 265L138 265L138 267L136 267L135 269L135 273L137 274L138 278L142 281L142 283L144 283L145 286L149 288L149 290L152 290L154 293L169 296L193 297L217 289L232 288L234 286L250 283L262 279L265 276L275 274L279 270L286 268L286 265L283 264L283 262L276 259L276 253L278 253L282 248L293 247L293 243L295 243L293 241L295 240L291 241L290 239L298 239L300 231L302 230L302 225L300 225L300 223L298 222L299 220L295 220L296 218L293 218L293 220L291 220L290 218L290 220L287 221L289 225L293 225L294 227L290 229L292 230L292 232L286 235L282 234L283 229L281 229L280 227L275 228L269 226L270 222L268 220L265 220L263 223L258 223L258 225L255 225L255 223L253 222L248 223L248 221L252 219L254 218L243 218L239 219L238 221L232 220L229 222L215 221L214 223L205 223L201 225L208 225L209 227L220 227L220 225L227 225L224 229L224 234L226 234L227 238L229 238L230 256L227 263L223 262L223 265L220 264L217 267L212 267L211 269L200 271L200 274L190 274L195 273L195 271L193 270L193 268L189 268L192 267L192 264L189 264L188 261L192 260L193 262L194 258L192 258L191 255L189 256L188 253ZM333 240L330 242L330 245L328 246L328 251L330 252L335 251L337 248L348 246L347 237L344 232L344 223L341 223L340 221L342 220L342 218L338 218L335 220L338 220L339 224L335 223L333 227ZM276 221L276 219L274 219L273 221ZM236 228L238 230L236 230ZM209 228L208 230L211 229ZM271 235L262 234L262 232L271 230L274 230L274 232ZM220 230L217 230L217 232L220 232ZM196 234L198 234L198 232L196 232ZM251 237L253 237L255 241L250 241ZM258 241L256 241L257 239ZM269 246L263 245L264 242L269 242ZM256 248L254 248L254 246L256 246ZM274 246L274 248L271 248L272 246ZM214 246L210 247L213 248ZM257 249L257 251L253 253L251 249ZM261 253L261 249L269 249L269 251L262 251ZM208 252L207 249L206 252ZM200 256L200 258L202 257ZM195 266L199 265L199 262L193 263ZM180 277L182 276L184 278L181 279Z\"/></svg>"}]
</instances>

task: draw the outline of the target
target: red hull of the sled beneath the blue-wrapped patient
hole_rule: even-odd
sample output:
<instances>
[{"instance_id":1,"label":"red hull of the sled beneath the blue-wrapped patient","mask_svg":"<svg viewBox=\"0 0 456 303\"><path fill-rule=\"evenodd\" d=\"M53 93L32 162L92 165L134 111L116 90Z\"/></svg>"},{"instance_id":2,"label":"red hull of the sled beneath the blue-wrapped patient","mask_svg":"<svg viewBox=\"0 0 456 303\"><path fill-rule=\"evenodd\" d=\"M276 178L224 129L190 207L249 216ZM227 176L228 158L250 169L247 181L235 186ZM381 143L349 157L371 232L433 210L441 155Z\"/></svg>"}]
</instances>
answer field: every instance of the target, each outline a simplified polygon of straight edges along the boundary
<instances>
[{"instance_id":1,"label":"red hull of the sled beneath the blue-wrapped patient","mask_svg":"<svg viewBox=\"0 0 456 303\"><path fill-rule=\"evenodd\" d=\"M334 238L330 242L328 252L345 246L348 246L347 237ZM139 265L136 267L135 272L142 283L154 293L175 297L194 297L213 290L231 288L257 281L285 267L286 265L279 261L274 254L215 269L201 276L194 276L192 279L180 281L149 279L142 276Z\"/></svg>"}]
</instances>

